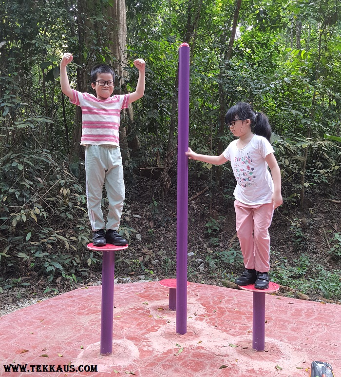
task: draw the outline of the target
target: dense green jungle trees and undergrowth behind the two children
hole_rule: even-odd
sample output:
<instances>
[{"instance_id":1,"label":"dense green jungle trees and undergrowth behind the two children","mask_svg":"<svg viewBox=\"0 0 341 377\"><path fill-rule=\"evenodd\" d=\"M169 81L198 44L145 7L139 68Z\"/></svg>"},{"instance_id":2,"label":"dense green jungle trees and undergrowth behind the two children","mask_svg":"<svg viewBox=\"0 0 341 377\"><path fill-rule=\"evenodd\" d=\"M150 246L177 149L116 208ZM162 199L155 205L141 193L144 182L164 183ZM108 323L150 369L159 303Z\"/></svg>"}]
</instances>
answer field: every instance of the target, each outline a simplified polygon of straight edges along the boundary
<instances>
[{"instance_id":1,"label":"dense green jungle trees and undergrowth behind the two children","mask_svg":"<svg viewBox=\"0 0 341 377\"><path fill-rule=\"evenodd\" d=\"M220 154L236 101L263 111L282 174L271 280L280 294L341 301L341 2L339 0L1 0L1 303L100 280L86 244L80 109L62 95L59 63L91 91L111 64L115 93L145 96L122 111L126 201L115 277L174 278L178 47L190 46L189 144ZM228 285L243 271L230 165L189 162L190 281ZM107 202L105 192L103 206Z\"/></svg>"}]
</instances>

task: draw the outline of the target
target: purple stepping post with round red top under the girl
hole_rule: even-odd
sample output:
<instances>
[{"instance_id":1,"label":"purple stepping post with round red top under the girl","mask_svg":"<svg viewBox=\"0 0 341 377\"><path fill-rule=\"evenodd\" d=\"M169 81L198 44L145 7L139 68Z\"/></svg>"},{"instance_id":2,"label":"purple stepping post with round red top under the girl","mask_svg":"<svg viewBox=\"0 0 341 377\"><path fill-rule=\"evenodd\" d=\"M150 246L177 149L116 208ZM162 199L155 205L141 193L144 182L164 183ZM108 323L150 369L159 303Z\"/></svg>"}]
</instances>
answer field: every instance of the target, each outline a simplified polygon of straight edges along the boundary
<instances>
[{"instance_id":1,"label":"purple stepping post with round red top under the girl","mask_svg":"<svg viewBox=\"0 0 341 377\"><path fill-rule=\"evenodd\" d=\"M253 292L252 311L252 348L255 351L264 351L265 344L265 293L276 292L280 286L272 281L269 288L256 289L254 284L239 285L240 288Z\"/></svg>"}]
</instances>

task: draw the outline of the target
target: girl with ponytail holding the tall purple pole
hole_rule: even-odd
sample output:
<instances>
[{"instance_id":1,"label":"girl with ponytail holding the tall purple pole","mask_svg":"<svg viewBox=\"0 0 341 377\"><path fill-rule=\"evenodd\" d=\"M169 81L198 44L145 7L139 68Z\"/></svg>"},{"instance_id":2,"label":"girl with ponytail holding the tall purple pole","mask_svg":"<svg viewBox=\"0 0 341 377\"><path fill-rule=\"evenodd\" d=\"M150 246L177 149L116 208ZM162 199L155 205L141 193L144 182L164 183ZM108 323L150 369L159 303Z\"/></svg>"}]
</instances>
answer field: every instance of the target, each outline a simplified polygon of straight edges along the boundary
<instances>
[{"instance_id":1,"label":"girl with ponytail holding the tall purple pole","mask_svg":"<svg viewBox=\"0 0 341 377\"><path fill-rule=\"evenodd\" d=\"M246 270L235 280L238 285L269 287L270 237L273 211L283 203L281 172L270 144L271 127L265 114L246 102L238 102L225 121L238 139L220 156L199 155L190 148L186 155L214 165L231 161L237 185L234 190L236 230ZM269 166L271 175L267 169Z\"/></svg>"}]
</instances>

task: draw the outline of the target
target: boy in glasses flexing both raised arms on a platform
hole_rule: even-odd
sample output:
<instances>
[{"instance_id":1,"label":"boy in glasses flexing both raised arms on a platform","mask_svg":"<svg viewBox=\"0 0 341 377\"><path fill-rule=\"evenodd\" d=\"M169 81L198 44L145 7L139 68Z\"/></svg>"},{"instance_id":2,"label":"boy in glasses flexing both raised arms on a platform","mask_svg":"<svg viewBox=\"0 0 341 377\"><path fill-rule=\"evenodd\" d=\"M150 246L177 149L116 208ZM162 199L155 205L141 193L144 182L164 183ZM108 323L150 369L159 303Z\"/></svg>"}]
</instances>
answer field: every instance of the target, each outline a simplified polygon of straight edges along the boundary
<instances>
[{"instance_id":1,"label":"boy in glasses flexing both raised arms on a platform","mask_svg":"<svg viewBox=\"0 0 341 377\"><path fill-rule=\"evenodd\" d=\"M99 64L91 70L91 87L96 97L89 93L71 89L66 66L73 60L65 53L60 62L60 86L70 102L82 109L82 138L85 145L85 177L88 215L94 232L94 246L107 243L123 246L128 241L117 230L123 210L125 188L122 157L119 147L118 129L120 111L140 99L145 90L145 67L143 59L134 60L139 71L136 90L125 95L111 95L114 92L115 74L111 67ZM109 199L108 220L105 224L101 209L103 184ZM107 229L105 233L104 229Z\"/></svg>"}]
</instances>

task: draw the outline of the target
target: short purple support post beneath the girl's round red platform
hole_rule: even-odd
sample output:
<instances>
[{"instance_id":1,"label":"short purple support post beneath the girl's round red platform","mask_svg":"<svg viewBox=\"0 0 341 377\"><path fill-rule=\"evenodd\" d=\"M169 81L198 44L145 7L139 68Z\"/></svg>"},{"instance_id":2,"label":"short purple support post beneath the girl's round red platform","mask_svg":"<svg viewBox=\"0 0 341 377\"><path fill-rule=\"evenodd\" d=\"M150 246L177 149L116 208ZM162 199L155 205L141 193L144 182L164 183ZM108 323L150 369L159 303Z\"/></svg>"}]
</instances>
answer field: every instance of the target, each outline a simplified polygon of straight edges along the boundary
<instances>
[{"instance_id":1,"label":"short purple support post beneath the girl's round red platform","mask_svg":"<svg viewBox=\"0 0 341 377\"><path fill-rule=\"evenodd\" d=\"M265 343L265 292L253 292L252 348L264 351Z\"/></svg>"}]
</instances>

